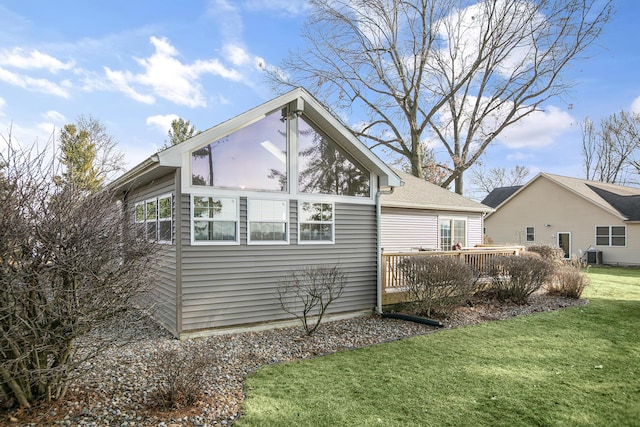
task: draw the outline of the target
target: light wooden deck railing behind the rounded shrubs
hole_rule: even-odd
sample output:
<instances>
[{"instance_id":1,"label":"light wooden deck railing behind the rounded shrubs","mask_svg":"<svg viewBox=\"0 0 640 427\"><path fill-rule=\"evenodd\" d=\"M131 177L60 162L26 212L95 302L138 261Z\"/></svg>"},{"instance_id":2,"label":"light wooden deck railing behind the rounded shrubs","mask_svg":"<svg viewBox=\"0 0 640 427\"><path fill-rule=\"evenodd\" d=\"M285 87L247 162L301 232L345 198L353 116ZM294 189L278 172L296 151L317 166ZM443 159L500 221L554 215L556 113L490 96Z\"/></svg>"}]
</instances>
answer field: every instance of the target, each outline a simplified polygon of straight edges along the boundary
<instances>
[{"instance_id":1,"label":"light wooden deck railing behind the rounded shrubs","mask_svg":"<svg viewBox=\"0 0 640 427\"><path fill-rule=\"evenodd\" d=\"M524 246L488 246L461 251L392 252L382 254L382 302L393 304L402 300L407 289L406 278L398 265L412 257L455 257L481 273L486 272L487 261L496 256L520 255Z\"/></svg>"}]
</instances>

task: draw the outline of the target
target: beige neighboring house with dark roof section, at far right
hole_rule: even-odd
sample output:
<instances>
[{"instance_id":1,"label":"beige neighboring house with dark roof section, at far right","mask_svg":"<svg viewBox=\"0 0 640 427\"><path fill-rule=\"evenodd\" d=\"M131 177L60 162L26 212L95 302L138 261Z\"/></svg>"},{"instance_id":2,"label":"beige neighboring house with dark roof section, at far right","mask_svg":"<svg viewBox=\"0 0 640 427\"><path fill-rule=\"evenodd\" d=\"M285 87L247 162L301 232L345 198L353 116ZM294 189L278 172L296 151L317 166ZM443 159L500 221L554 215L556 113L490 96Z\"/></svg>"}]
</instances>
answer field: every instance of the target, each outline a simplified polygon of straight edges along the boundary
<instances>
[{"instance_id":1,"label":"beige neighboring house with dark roof section, at far right","mask_svg":"<svg viewBox=\"0 0 640 427\"><path fill-rule=\"evenodd\" d=\"M497 188L485 231L498 244L548 244L591 264L640 265L640 188L540 173Z\"/></svg>"}]
</instances>

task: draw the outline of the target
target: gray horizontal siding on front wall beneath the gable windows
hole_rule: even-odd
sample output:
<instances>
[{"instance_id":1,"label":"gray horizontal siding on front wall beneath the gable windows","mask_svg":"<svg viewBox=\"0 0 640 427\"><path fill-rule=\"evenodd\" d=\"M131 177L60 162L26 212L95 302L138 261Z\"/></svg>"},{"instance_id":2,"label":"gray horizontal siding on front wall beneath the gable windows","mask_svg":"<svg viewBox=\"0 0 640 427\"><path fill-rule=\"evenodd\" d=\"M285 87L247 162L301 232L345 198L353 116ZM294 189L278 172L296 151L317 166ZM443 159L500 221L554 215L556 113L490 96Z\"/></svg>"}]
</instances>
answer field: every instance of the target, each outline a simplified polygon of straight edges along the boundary
<instances>
[{"instance_id":1,"label":"gray horizontal siding on front wall beneath the gable windows","mask_svg":"<svg viewBox=\"0 0 640 427\"><path fill-rule=\"evenodd\" d=\"M376 303L375 206L335 204L335 244L298 245L297 201L289 204L288 245L247 245L246 198L240 199L240 244L190 246L190 199L183 198L182 331L290 319L276 286L292 268L338 264L347 287L331 313Z\"/></svg>"}]
</instances>

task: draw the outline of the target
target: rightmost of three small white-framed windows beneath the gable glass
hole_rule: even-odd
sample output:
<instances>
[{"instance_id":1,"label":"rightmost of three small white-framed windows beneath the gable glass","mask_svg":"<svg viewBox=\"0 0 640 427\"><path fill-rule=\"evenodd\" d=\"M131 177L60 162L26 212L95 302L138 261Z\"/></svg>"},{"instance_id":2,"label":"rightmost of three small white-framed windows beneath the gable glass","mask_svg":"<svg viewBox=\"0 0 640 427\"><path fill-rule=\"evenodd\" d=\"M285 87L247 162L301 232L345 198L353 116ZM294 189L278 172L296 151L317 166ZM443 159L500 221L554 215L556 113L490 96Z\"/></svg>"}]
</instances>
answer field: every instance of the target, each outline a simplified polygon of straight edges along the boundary
<instances>
[{"instance_id":1,"label":"rightmost of three small white-framed windows beneath the gable glass","mask_svg":"<svg viewBox=\"0 0 640 427\"><path fill-rule=\"evenodd\" d=\"M333 203L301 202L298 209L300 243L333 243Z\"/></svg>"}]
</instances>

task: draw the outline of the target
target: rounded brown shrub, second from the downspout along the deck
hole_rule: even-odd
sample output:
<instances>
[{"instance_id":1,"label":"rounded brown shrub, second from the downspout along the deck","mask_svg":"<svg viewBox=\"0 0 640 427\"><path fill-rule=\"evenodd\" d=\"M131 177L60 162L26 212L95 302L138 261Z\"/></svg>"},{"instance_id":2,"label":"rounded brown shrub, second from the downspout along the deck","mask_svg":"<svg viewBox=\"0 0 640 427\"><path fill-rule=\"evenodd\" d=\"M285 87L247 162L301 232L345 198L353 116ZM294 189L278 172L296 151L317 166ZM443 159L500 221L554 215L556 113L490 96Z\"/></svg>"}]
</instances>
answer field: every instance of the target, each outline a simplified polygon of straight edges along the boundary
<instances>
[{"instance_id":1,"label":"rounded brown shrub, second from the downspout along the deck","mask_svg":"<svg viewBox=\"0 0 640 427\"><path fill-rule=\"evenodd\" d=\"M554 272L551 261L532 256L501 256L488 263L492 282L488 292L500 301L525 304Z\"/></svg>"}]
</instances>

